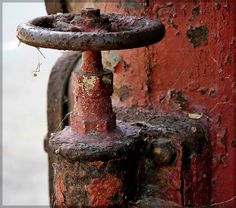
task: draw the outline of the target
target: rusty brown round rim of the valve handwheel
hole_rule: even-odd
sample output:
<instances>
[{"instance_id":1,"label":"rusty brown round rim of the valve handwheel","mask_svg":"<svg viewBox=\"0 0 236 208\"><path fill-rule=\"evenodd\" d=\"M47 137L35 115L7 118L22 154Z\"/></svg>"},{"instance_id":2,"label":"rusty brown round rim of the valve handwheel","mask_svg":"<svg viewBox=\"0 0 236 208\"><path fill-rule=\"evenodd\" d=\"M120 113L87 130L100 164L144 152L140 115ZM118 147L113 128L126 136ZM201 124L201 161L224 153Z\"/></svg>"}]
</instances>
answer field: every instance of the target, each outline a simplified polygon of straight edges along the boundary
<instances>
[{"instance_id":1,"label":"rusty brown round rim of the valve handwheel","mask_svg":"<svg viewBox=\"0 0 236 208\"><path fill-rule=\"evenodd\" d=\"M118 32L64 32L53 28L38 26L38 22L47 18L56 19L68 14L48 15L35 18L17 27L17 38L28 45L59 50L85 51L85 50L119 50L138 48L159 42L165 34L165 27L160 20L151 20L146 17L136 17L120 14L106 14L109 20L128 18L137 21L137 27L131 30ZM75 15L75 14L70 14ZM76 14L78 15L78 14ZM138 27L139 22L144 23ZM129 24L129 23L127 23ZM130 25L129 25L130 26Z\"/></svg>"}]
</instances>

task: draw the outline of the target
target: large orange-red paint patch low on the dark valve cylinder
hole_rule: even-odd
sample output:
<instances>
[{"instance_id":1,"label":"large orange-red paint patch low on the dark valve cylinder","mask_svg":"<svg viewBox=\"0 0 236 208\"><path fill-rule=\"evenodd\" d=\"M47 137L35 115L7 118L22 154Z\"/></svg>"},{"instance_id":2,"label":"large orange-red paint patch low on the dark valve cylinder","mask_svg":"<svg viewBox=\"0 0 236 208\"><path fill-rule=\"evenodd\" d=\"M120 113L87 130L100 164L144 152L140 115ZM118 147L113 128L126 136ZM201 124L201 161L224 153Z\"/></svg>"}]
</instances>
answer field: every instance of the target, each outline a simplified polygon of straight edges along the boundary
<instances>
[{"instance_id":1,"label":"large orange-red paint patch low on the dark valve cylinder","mask_svg":"<svg viewBox=\"0 0 236 208\"><path fill-rule=\"evenodd\" d=\"M122 182L115 176L92 179L87 186L90 195L89 205L91 207L107 207L113 205L110 198L122 187Z\"/></svg>"}]
</instances>

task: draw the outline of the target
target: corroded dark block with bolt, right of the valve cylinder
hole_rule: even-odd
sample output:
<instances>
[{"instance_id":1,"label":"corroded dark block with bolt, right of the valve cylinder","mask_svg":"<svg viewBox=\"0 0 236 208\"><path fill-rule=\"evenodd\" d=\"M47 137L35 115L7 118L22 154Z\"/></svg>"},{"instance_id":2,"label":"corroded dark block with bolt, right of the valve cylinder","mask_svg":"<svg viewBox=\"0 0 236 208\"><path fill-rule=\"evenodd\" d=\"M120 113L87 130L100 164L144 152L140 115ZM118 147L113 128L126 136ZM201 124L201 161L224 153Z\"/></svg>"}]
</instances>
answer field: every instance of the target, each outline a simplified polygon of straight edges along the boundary
<instances>
[{"instance_id":1,"label":"corroded dark block with bolt, right of the valve cylinder","mask_svg":"<svg viewBox=\"0 0 236 208\"><path fill-rule=\"evenodd\" d=\"M160 115L154 110L115 108L114 111L118 119L140 128L143 141L139 197L134 204L208 206L212 153L205 125L183 116Z\"/></svg>"}]
</instances>

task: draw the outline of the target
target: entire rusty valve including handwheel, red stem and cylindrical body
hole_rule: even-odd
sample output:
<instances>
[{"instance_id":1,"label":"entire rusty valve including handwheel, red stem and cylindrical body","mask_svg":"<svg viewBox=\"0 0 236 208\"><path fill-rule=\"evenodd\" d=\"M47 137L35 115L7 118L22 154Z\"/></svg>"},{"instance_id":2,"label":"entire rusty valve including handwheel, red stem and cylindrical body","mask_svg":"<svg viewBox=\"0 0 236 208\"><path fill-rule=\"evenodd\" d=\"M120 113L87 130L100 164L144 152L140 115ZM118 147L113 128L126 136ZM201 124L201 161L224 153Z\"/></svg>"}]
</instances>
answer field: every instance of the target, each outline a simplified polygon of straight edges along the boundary
<instances>
[{"instance_id":1,"label":"entire rusty valve including handwheel, red stem and cylindrical body","mask_svg":"<svg viewBox=\"0 0 236 208\"><path fill-rule=\"evenodd\" d=\"M99 9L36 18L17 28L21 42L44 48L82 51L73 72L74 108L70 126L48 139L53 169L53 207L123 207L137 192L137 126L117 122L112 111L113 75L103 69L101 50L154 44L165 34L159 20Z\"/></svg>"}]
</instances>

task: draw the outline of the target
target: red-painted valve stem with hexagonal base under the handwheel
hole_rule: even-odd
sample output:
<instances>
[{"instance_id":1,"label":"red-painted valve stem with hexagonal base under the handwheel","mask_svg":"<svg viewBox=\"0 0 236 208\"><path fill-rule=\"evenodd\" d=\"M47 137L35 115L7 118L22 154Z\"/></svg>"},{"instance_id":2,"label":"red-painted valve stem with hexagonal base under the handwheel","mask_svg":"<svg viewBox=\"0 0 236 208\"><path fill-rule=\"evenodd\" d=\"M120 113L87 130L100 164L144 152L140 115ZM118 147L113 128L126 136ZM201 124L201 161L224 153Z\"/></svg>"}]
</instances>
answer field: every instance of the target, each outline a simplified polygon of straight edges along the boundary
<instances>
[{"instance_id":1,"label":"red-painted valve stem with hexagonal base under the handwheel","mask_svg":"<svg viewBox=\"0 0 236 208\"><path fill-rule=\"evenodd\" d=\"M81 69L72 73L72 85L72 129L83 134L115 129L116 116L111 104L113 74L103 70L101 52L82 52Z\"/></svg>"}]
</instances>

